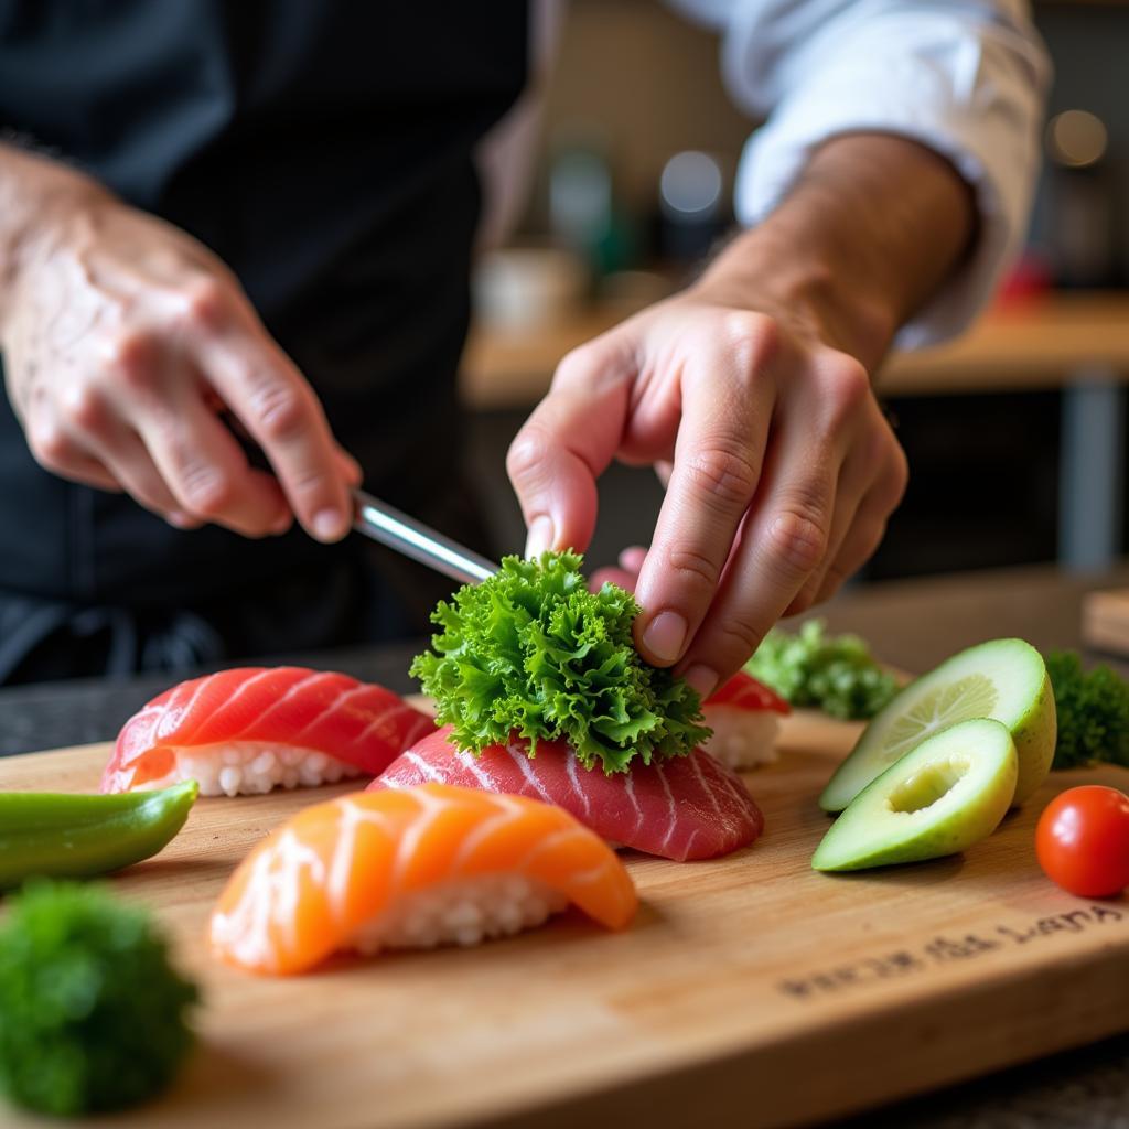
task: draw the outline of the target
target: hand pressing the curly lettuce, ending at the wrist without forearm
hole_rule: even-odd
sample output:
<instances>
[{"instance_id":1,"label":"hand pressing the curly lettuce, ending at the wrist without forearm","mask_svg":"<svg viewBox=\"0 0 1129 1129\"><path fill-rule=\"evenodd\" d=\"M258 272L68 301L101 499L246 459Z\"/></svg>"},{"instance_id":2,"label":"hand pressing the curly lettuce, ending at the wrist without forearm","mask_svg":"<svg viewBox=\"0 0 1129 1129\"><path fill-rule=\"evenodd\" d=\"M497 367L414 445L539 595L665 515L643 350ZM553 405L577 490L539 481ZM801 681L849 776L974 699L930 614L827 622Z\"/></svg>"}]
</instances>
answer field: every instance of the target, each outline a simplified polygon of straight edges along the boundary
<instances>
[{"instance_id":1,"label":"hand pressing the curly lettuce, ending at the wrist without forearm","mask_svg":"<svg viewBox=\"0 0 1129 1129\"><path fill-rule=\"evenodd\" d=\"M702 693L863 564L905 487L866 369L767 298L693 288L578 349L509 457L531 552L588 543L612 458L673 464L638 645Z\"/></svg>"}]
</instances>

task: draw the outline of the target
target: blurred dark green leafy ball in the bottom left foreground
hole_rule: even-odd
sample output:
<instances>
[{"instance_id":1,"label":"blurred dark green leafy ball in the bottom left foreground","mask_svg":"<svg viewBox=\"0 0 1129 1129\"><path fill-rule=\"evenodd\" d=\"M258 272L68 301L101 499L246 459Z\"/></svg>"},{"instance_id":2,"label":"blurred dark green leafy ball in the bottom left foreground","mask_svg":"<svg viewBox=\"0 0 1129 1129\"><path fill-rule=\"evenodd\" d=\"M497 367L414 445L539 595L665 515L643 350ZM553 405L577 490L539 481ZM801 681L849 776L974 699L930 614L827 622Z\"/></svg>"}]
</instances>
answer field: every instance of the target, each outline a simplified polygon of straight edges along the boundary
<instances>
[{"instance_id":1,"label":"blurred dark green leafy ball in the bottom left foreground","mask_svg":"<svg viewBox=\"0 0 1129 1129\"><path fill-rule=\"evenodd\" d=\"M55 1115L143 1101L191 1047L196 999L148 914L97 886L29 883L0 926L0 1088Z\"/></svg>"}]
</instances>

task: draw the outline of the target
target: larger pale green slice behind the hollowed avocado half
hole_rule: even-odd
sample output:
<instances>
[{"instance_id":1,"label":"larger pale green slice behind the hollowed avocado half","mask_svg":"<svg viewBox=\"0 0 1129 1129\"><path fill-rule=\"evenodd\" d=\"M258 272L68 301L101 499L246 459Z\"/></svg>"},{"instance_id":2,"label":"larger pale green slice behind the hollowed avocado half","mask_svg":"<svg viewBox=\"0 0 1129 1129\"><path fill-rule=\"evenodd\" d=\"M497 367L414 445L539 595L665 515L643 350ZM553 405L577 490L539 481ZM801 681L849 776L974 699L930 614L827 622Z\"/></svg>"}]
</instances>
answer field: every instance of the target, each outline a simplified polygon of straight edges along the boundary
<instances>
[{"instance_id":1,"label":"larger pale green slice behind the hollowed avocado half","mask_svg":"<svg viewBox=\"0 0 1129 1129\"><path fill-rule=\"evenodd\" d=\"M832 776L820 806L841 812L926 737L987 717L1007 726L1019 758L1014 806L1047 779L1054 756L1054 694L1043 657L1022 639L992 639L911 682L866 727Z\"/></svg>"}]
</instances>

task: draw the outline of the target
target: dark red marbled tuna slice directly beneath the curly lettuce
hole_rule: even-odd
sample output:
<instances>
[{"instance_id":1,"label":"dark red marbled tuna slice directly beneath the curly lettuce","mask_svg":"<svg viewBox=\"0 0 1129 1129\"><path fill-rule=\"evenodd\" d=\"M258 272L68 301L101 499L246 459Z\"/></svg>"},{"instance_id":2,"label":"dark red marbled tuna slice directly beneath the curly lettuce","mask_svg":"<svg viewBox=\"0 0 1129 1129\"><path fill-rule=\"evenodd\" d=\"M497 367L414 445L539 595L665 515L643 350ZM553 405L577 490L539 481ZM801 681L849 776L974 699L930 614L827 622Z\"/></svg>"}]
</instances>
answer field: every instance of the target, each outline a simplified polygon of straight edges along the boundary
<instances>
[{"instance_id":1,"label":"dark red marbled tuna slice directly beneath the curly lettuce","mask_svg":"<svg viewBox=\"0 0 1129 1129\"><path fill-rule=\"evenodd\" d=\"M695 749L607 776L577 763L563 742L491 745L460 752L445 726L417 742L369 785L411 788L427 781L531 796L557 804L596 834L677 861L715 858L751 843L763 817L741 779Z\"/></svg>"}]
</instances>

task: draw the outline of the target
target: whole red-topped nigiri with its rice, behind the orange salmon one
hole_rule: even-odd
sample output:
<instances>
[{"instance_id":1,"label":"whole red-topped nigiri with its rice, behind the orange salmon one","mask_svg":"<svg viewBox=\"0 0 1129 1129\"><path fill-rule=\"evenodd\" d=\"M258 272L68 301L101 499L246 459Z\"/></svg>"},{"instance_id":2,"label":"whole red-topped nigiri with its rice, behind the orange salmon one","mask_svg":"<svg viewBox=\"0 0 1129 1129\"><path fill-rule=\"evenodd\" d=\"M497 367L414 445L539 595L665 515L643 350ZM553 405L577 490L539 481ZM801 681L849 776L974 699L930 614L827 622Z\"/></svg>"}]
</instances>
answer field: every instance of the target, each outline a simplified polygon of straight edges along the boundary
<instances>
[{"instance_id":1,"label":"whole red-topped nigiri with its rice, behind the orange salmon one","mask_svg":"<svg viewBox=\"0 0 1129 1129\"><path fill-rule=\"evenodd\" d=\"M182 682L125 723L103 791L193 779L236 796L375 776L435 723L384 686L300 666Z\"/></svg>"}]
</instances>

